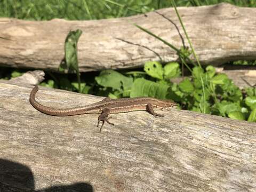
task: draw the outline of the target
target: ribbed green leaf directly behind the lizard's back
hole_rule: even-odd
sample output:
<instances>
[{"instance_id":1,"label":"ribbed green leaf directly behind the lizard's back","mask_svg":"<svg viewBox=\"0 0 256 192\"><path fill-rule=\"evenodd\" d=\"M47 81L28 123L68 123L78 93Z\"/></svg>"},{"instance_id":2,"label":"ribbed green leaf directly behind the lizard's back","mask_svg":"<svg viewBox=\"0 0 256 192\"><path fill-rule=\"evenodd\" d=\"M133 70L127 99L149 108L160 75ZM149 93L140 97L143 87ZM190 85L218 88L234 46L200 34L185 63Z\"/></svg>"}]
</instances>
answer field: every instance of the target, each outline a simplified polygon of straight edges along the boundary
<instances>
[{"instance_id":1,"label":"ribbed green leaf directly behind the lizard's back","mask_svg":"<svg viewBox=\"0 0 256 192\"><path fill-rule=\"evenodd\" d=\"M148 81L143 78L135 79L130 97L153 97L166 99L169 86Z\"/></svg>"}]
</instances>

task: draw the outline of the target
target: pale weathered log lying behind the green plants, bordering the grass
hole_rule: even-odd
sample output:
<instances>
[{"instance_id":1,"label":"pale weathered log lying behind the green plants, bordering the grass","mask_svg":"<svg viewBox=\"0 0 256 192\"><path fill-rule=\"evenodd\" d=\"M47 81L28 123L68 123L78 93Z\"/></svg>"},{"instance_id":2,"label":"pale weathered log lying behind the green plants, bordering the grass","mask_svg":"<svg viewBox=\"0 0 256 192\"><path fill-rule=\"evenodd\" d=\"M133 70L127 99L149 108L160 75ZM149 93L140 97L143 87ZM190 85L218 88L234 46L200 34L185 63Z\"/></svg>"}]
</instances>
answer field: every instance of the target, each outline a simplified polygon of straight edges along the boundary
<instances>
[{"instance_id":1,"label":"pale weathered log lying behind the green plants, bordering the grass","mask_svg":"<svg viewBox=\"0 0 256 192\"><path fill-rule=\"evenodd\" d=\"M221 3L179 7L191 42L202 63L220 65L237 59L256 59L256 9ZM167 19L171 20L167 20ZM82 29L78 42L80 71L142 66L148 60L177 60L170 47L141 31L152 31L174 46L185 35L173 8L127 18L66 21L0 19L0 65L58 70L69 30ZM177 30L178 28L178 30ZM191 57L193 59L193 57Z\"/></svg>"}]
</instances>

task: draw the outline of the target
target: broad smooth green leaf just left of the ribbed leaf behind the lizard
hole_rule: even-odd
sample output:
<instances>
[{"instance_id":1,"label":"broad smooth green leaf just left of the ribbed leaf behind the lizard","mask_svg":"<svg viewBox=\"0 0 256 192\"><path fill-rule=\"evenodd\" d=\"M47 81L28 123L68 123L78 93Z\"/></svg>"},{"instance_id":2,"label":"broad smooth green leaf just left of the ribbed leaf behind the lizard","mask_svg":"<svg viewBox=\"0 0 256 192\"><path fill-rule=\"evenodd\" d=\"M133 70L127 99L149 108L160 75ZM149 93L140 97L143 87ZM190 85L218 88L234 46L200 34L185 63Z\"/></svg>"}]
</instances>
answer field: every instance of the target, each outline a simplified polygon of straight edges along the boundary
<instances>
[{"instance_id":1,"label":"broad smooth green leaf just left of the ribbed leaf behind the lizard","mask_svg":"<svg viewBox=\"0 0 256 192\"><path fill-rule=\"evenodd\" d=\"M133 78L126 77L121 73L114 70L103 70L98 77L95 77L95 81L104 87L111 87L115 90L131 90Z\"/></svg>"}]
</instances>

